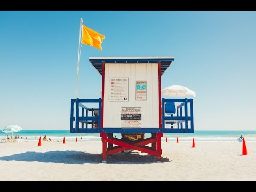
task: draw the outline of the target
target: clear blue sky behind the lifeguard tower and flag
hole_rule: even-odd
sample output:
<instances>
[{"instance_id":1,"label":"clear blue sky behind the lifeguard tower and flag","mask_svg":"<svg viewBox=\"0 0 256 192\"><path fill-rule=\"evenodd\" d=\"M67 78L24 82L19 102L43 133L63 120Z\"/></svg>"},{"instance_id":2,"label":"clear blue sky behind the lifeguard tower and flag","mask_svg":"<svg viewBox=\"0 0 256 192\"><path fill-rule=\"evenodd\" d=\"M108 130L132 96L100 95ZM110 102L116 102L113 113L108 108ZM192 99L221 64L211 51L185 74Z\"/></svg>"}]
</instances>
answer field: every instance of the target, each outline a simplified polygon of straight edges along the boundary
<instances>
[{"instance_id":1,"label":"clear blue sky behind the lifeguard tower and flag","mask_svg":"<svg viewBox=\"0 0 256 192\"><path fill-rule=\"evenodd\" d=\"M69 130L80 18L105 39L82 45L78 98L101 98L89 57L173 56L162 89L196 92L194 130L256 130L256 11L0 11L0 129Z\"/></svg>"}]
</instances>

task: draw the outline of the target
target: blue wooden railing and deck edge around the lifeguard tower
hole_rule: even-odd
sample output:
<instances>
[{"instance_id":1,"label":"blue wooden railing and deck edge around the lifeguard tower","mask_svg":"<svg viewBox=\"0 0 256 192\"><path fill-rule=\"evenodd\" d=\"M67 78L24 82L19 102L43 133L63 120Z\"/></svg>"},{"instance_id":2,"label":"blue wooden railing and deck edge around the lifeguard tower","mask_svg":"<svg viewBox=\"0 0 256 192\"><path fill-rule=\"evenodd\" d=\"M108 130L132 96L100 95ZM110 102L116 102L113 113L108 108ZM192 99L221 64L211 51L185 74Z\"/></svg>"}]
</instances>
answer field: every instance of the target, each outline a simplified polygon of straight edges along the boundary
<instances>
[{"instance_id":1,"label":"blue wooden railing and deck edge around the lifeguard tower","mask_svg":"<svg viewBox=\"0 0 256 192\"><path fill-rule=\"evenodd\" d=\"M177 114L167 115L165 103L180 103L175 109ZM89 108L84 103L98 103L98 108ZM189 105L188 105L189 104ZM74 108L75 106L75 108ZM75 116L74 116L75 109ZM99 110L95 116L94 111ZM184 112L184 113L183 113ZM190 114L188 114L188 112ZM94 124L97 124L95 128ZM171 124L171 127L166 127ZM177 124L177 128L173 125ZM184 124L184 126L183 126ZM190 126L188 126L190 124ZM75 125L75 126L74 126ZM193 133L193 100L192 99L162 99L162 129L161 128L101 128L101 99L71 99L70 133Z\"/></svg>"}]
</instances>

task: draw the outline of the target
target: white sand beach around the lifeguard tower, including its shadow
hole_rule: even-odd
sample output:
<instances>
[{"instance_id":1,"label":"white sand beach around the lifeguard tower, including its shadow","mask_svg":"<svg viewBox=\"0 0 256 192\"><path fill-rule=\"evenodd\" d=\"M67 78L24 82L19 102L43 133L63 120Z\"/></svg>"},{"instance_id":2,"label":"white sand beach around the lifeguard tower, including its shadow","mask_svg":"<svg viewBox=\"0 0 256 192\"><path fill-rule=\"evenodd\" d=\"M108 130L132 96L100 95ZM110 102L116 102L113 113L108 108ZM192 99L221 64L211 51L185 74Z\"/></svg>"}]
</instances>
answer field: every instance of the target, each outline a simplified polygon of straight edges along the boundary
<instances>
[{"instance_id":1,"label":"white sand beach around the lifeguard tower, including its shadow","mask_svg":"<svg viewBox=\"0 0 256 192\"><path fill-rule=\"evenodd\" d=\"M0 143L1 181L256 181L256 142L162 142L163 161L132 151L101 163L100 141Z\"/></svg>"}]
</instances>

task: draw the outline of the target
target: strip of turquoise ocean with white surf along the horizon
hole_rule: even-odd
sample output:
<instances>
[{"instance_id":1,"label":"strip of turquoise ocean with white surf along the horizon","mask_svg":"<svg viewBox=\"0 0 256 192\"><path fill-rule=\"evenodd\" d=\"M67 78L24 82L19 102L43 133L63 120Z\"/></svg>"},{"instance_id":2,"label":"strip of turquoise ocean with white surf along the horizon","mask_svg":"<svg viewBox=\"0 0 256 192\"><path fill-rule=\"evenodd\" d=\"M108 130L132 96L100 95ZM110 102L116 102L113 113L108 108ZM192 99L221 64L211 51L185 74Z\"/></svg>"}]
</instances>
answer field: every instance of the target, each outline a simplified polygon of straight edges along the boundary
<instances>
[{"instance_id":1,"label":"strip of turquoise ocean with white surf along the horizon","mask_svg":"<svg viewBox=\"0 0 256 192\"><path fill-rule=\"evenodd\" d=\"M0 132L0 139L7 138L11 136L10 133ZM19 135L19 137L28 140L38 140L46 135L47 138L53 140L62 141L63 137L67 141L75 141L76 138L79 141L101 141L100 134L91 133L70 133L69 130L21 130L20 132L13 133L13 137ZM116 138L120 138L121 134L114 134ZM151 134L145 134L145 137L149 137ZM194 133L164 133L162 140L166 137L168 141L176 141L179 137L179 142L191 142L193 138L197 142L237 142L237 138L242 135L246 142L256 142L256 130L255 131L194 131ZM37 137L37 138L35 138ZM82 139L81 139L82 137Z\"/></svg>"}]
</instances>

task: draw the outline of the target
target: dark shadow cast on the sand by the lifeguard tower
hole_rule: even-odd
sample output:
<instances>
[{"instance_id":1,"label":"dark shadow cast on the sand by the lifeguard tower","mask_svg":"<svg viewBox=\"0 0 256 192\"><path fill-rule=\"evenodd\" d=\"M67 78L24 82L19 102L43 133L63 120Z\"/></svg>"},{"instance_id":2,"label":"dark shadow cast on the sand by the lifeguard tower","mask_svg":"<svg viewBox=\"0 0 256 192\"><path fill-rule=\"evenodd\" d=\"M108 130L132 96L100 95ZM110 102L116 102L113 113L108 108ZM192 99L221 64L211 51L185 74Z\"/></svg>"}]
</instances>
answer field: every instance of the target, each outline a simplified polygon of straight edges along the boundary
<instances>
[{"instance_id":1,"label":"dark shadow cast on the sand by the lifeguard tower","mask_svg":"<svg viewBox=\"0 0 256 192\"><path fill-rule=\"evenodd\" d=\"M118 153L107 158L108 164L145 164L156 163L156 157L152 155L140 155L142 153L129 152ZM0 157L2 161L27 161L44 163L84 164L101 163L102 154L90 154L82 151L47 151L26 152L10 156ZM162 162L169 162L168 158L162 158Z\"/></svg>"}]
</instances>

